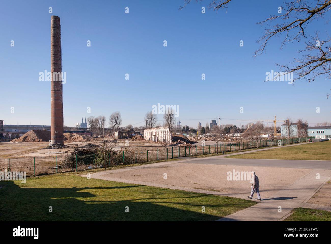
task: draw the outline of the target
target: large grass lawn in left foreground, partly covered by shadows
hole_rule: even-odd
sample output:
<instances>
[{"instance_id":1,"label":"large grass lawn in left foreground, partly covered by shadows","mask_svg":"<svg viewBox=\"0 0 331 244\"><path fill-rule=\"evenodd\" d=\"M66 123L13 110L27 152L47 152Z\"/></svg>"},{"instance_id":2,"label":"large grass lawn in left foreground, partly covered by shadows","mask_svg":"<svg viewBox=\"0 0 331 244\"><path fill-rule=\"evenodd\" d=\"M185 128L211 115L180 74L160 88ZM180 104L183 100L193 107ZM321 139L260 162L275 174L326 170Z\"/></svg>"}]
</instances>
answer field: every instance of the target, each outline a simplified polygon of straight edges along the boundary
<instances>
[{"instance_id":1,"label":"large grass lawn in left foreground, partly covered by shadows","mask_svg":"<svg viewBox=\"0 0 331 244\"><path fill-rule=\"evenodd\" d=\"M211 221L254 204L71 173L27 178L25 184L0 181L0 219L10 221Z\"/></svg>"}]
</instances>

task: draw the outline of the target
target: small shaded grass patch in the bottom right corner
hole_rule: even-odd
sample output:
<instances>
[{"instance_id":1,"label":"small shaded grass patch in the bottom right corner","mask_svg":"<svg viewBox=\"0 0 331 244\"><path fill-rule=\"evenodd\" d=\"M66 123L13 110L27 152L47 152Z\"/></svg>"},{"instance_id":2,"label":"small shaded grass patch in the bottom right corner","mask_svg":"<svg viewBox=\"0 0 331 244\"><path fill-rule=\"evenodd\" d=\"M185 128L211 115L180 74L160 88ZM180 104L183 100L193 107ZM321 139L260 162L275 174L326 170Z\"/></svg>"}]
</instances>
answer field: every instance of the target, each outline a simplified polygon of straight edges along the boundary
<instances>
[{"instance_id":1,"label":"small shaded grass patch in the bottom right corner","mask_svg":"<svg viewBox=\"0 0 331 244\"><path fill-rule=\"evenodd\" d=\"M298 207L284 221L331 221L331 212Z\"/></svg>"}]
</instances>

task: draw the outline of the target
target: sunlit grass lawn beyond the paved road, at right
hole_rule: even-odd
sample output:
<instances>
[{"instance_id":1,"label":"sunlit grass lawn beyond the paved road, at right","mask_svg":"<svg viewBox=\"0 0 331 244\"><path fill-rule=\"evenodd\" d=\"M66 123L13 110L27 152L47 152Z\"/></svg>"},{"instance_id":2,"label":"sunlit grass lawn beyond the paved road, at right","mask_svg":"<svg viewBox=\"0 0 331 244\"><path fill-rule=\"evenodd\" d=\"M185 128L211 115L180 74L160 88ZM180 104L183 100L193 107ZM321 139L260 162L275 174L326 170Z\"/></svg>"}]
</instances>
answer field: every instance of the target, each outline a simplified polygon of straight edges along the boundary
<instances>
[{"instance_id":1,"label":"sunlit grass lawn beyond the paved road, at right","mask_svg":"<svg viewBox=\"0 0 331 244\"><path fill-rule=\"evenodd\" d=\"M290 147L227 156L227 158L331 160L331 141L314 142Z\"/></svg>"}]
</instances>

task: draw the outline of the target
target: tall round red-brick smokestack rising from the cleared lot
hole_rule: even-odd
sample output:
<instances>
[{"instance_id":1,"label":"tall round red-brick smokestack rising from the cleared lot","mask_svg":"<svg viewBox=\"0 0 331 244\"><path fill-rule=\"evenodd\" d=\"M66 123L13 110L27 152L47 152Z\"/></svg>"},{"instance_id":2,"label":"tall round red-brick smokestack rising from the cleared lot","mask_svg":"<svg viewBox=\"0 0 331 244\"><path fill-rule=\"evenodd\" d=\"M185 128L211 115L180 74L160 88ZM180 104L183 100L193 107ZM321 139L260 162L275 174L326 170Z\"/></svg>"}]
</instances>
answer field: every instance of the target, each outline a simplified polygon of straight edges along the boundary
<instances>
[{"instance_id":1,"label":"tall round red-brick smokestack rising from the cleared lot","mask_svg":"<svg viewBox=\"0 0 331 244\"><path fill-rule=\"evenodd\" d=\"M60 17L54 15L51 17L51 74L51 143L63 145L61 25Z\"/></svg>"}]
</instances>

